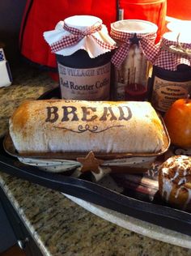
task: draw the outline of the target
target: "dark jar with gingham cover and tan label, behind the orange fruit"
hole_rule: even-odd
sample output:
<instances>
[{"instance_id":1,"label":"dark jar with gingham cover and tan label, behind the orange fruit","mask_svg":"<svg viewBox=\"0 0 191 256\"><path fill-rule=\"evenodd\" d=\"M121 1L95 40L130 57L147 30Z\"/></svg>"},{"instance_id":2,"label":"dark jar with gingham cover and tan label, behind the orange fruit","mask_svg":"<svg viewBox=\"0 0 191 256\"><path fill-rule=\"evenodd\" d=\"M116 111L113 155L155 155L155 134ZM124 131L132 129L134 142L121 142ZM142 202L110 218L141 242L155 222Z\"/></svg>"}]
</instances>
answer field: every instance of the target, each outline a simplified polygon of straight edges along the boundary
<instances>
[{"instance_id":1,"label":"dark jar with gingham cover and tan label, behind the orange fruit","mask_svg":"<svg viewBox=\"0 0 191 256\"><path fill-rule=\"evenodd\" d=\"M190 36L189 36L190 37ZM165 113L175 100L191 95L191 38L167 32L159 45L151 75L151 104Z\"/></svg>"}]
</instances>

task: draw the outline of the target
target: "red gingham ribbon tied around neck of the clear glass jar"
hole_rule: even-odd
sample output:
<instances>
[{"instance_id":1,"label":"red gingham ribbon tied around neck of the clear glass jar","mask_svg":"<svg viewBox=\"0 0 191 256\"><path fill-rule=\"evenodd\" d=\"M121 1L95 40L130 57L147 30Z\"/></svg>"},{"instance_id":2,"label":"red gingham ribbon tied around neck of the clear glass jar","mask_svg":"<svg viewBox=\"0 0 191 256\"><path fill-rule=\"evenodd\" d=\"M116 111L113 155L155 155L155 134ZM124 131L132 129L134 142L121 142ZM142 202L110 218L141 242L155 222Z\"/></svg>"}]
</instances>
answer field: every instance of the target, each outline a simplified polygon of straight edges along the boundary
<instances>
[{"instance_id":1,"label":"red gingham ribbon tied around neck of the clear glass jar","mask_svg":"<svg viewBox=\"0 0 191 256\"><path fill-rule=\"evenodd\" d=\"M134 32L122 32L111 28L110 35L116 41L120 42L119 48L112 56L112 63L114 66L120 68L122 62L128 56L131 39L134 37ZM156 33L136 33L138 37L138 46L145 55L146 60L154 62L158 49L155 46Z\"/></svg>"}]
</instances>

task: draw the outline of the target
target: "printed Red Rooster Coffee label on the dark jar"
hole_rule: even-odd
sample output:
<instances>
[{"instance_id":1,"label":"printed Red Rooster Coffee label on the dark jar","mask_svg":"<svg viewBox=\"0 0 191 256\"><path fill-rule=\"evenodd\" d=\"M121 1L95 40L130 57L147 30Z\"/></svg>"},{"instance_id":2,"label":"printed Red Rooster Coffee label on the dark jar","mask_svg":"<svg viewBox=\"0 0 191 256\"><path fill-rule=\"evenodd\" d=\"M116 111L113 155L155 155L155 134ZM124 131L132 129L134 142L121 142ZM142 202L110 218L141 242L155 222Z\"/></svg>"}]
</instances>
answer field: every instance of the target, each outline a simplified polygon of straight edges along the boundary
<instances>
[{"instance_id":1,"label":"printed Red Rooster Coffee label on the dark jar","mask_svg":"<svg viewBox=\"0 0 191 256\"><path fill-rule=\"evenodd\" d=\"M71 68L58 63L62 99L108 100L110 62L94 68Z\"/></svg>"}]
</instances>

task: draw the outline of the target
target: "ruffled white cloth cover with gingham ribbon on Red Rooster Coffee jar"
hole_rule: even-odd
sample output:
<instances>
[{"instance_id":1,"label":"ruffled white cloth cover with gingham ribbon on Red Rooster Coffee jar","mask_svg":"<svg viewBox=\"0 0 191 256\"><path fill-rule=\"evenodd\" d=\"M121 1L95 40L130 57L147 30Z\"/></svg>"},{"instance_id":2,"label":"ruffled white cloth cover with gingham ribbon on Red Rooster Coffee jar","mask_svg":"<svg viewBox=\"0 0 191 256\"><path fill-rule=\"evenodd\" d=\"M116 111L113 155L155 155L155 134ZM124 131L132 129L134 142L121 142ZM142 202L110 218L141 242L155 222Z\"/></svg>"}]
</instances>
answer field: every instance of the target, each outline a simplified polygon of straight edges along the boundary
<instances>
[{"instance_id":1,"label":"ruffled white cloth cover with gingham ribbon on Red Rooster Coffee jar","mask_svg":"<svg viewBox=\"0 0 191 256\"><path fill-rule=\"evenodd\" d=\"M57 23L52 31L44 32L53 53L70 56L84 49L90 58L116 48L102 20L91 15L74 15Z\"/></svg>"}]
</instances>

